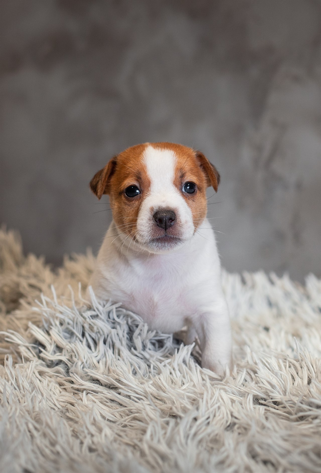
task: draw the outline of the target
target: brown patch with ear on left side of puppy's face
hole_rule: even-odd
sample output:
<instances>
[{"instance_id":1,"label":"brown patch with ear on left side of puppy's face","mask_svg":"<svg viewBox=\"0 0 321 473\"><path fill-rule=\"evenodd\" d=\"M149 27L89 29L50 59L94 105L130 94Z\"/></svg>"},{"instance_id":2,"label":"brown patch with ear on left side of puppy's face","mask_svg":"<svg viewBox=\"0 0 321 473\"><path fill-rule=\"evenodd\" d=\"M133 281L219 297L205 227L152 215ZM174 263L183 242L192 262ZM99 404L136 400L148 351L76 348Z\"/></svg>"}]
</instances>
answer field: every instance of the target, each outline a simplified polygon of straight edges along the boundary
<instances>
[{"instance_id":1,"label":"brown patch with ear on left side of puppy's face","mask_svg":"<svg viewBox=\"0 0 321 473\"><path fill-rule=\"evenodd\" d=\"M151 185L143 163L143 154L149 143L125 149L93 176L90 187L100 199L109 194L113 219L119 232L135 238L138 212ZM125 189L136 185L140 194L127 197Z\"/></svg>"}]
</instances>

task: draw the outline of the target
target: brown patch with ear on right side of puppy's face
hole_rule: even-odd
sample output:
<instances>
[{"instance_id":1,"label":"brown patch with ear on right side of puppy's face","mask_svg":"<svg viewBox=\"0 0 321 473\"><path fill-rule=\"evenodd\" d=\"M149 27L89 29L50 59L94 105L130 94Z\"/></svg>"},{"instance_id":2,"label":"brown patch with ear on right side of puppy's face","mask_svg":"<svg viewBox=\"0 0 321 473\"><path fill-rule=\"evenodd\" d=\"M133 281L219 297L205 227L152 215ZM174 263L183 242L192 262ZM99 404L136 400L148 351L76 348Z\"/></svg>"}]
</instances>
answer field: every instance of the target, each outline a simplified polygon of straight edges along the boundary
<instances>
[{"instance_id":1,"label":"brown patch with ear on right side of puppy's face","mask_svg":"<svg viewBox=\"0 0 321 473\"><path fill-rule=\"evenodd\" d=\"M212 185L215 192L217 192L220 183L218 171L200 151L194 151L192 148L175 143L151 144L153 148L174 151L177 158L174 185L180 192L186 182L196 184L194 193L182 192L187 205L192 211L194 228L196 229L207 213L206 188Z\"/></svg>"}]
</instances>

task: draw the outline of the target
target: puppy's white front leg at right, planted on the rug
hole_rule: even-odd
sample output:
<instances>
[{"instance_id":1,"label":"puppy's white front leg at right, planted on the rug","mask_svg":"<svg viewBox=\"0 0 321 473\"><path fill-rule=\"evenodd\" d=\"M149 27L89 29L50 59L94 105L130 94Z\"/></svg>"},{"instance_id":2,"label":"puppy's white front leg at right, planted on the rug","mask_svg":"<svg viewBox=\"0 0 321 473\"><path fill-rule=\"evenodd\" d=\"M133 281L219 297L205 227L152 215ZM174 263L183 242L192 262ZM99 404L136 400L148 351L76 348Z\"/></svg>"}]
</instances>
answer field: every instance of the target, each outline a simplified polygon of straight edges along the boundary
<instances>
[{"instance_id":1,"label":"puppy's white front leg at right, planted on the rug","mask_svg":"<svg viewBox=\"0 0 321 473\"><path fill-rule=\"evenodd\" d=\"M225 299L200 315L196 330L201 342L202 367L209 368L220 376L225 368L232 368L232 337Z\"/></svg>"}]
</instances>

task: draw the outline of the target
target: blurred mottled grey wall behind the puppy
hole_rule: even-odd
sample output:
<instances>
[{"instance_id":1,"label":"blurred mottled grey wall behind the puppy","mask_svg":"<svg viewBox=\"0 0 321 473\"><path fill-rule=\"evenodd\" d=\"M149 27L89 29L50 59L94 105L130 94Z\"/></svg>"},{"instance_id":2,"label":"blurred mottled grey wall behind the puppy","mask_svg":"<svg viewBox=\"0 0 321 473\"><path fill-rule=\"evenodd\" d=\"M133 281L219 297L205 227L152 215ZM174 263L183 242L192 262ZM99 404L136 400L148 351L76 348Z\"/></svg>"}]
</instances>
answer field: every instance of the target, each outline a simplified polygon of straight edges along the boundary
<instances>
[{"instance_id":1,"label":"blurred mottled grey wall behind the puppy","mask_svg":"<svg viewBox=\"0 0 321 473\"><path fill-rule=\"evenodd\" d=\"M110 211L93 174L174 141L220 171L209 216L225 268L321 276L319 0L0 8L0 223L25 252L96 253Z\"/></svg>"}]
</instances>

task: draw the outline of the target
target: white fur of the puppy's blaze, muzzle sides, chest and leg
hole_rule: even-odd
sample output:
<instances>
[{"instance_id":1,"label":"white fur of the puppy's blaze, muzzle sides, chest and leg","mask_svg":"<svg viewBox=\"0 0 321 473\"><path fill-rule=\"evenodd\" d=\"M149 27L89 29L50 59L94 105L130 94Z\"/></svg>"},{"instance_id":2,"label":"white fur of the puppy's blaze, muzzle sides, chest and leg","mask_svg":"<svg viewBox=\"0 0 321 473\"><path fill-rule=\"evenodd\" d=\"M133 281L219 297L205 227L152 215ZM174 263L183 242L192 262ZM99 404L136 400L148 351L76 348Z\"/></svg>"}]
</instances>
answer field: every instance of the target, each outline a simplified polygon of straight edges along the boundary
<instances>
[{"instance_id":1,"label":"white fur of the puppy's blaze, muzzle sides, chest and leg","mask_svg":"<svg viewBox=\"0 0 321 473\"><path fill-rule=\"evenodd\" d=\"M172 151L148 147L145 165L152 185L139 212L139 242L123 236L112 222L90 285L99 299L121 302L151 329L174 333L187 325L188 342L199 337L203 367L222 374L231 363L231 331L213 230L205 219L194 233L191 210L173 184ZM178 212L182 235L180 246L163 253L144 244L159 207Z\"/></svg>"}]
</instances>

